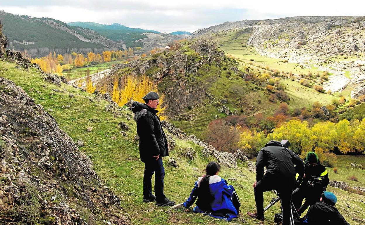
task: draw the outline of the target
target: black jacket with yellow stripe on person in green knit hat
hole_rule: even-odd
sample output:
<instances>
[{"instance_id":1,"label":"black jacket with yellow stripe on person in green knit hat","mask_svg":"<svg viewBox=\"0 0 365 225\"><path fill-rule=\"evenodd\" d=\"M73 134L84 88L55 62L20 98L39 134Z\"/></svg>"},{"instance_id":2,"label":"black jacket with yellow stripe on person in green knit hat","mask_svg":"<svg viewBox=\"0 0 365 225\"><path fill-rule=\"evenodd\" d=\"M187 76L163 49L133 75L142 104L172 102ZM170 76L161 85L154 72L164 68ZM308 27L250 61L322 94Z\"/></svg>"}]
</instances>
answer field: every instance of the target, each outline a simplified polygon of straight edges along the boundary
<instances>
[{"instance_id":1,"label":"black jacket with yellow stripe on person in green knit hat","mask_svg":"<svg viewBox=\"0 0 365 225\"><path fill-rule=\"evenodd\" d=\"M321 191L323 191L327 187L329 182L328 172L326 170L326 167L320 164L320 162L318 162L318 164L315 166L311 166L306 160L304 162L304 173L306 174L306 177L303 178L303 182L301 183L300 188L307 187L308 181L312 179L312 176L320 176L323 179L323 187L318 187Z\"/></svg>"}]
</instances>

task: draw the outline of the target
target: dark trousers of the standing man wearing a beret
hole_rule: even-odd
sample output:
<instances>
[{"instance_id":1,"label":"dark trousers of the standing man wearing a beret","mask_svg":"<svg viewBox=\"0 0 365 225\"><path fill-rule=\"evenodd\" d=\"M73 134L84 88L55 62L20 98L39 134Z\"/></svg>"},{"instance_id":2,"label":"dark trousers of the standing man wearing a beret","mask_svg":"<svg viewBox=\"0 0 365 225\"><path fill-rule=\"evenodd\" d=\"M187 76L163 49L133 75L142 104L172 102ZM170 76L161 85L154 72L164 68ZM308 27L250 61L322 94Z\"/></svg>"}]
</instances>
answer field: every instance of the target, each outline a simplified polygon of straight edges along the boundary
<instances>
[{"instance_id":1,"label":"dark trousers of the standing man wearing a beret","mask_svg":"<svg viewBox=\"0 0 365 225\"><path fill-rule=\"evenodd\" d=\"M143 174L143 198L149 198L152 195L152 175L155 174L155 196L156 201L165 199L164 178L165 169L162 164L162 158L156 160L152 158L145 162L145 173Z\"/></svg>"}]
</instances>

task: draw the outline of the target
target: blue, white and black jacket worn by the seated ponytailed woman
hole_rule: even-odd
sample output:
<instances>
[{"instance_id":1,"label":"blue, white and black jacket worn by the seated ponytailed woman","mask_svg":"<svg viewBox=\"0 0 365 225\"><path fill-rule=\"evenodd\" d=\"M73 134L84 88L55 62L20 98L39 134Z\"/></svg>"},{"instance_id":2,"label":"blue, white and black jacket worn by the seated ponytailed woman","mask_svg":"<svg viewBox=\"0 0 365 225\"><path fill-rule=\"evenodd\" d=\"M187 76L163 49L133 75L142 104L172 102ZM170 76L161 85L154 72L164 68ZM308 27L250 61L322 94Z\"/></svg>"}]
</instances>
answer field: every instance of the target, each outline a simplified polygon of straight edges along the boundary
<instances>
[{"instance_id":1,"label":"blue, white and black jacket worn by the seated ponytailed woman","mask_svg":"<svg viewBox=\"0 0 365 225\"><path fill-rule=\"evenodd\" d=\"M204 213L211 217L224 219L231 221L233 218L237 218L238 212L232 203L232 196L235 194L235 190L232 185L228 185L227 181L220 178L219 182L209 184L214 200L211 203L212 212L204 212L196 205L193 209L196 213ZM184 202L184 207L190 207L195 202L198 197L198 181L195 182L195 186L191 191L191 194L186 202ZM199 201L197 201L198 203ZM238 206L239 207L239 206Z\"/></svg>"}]
</instances>

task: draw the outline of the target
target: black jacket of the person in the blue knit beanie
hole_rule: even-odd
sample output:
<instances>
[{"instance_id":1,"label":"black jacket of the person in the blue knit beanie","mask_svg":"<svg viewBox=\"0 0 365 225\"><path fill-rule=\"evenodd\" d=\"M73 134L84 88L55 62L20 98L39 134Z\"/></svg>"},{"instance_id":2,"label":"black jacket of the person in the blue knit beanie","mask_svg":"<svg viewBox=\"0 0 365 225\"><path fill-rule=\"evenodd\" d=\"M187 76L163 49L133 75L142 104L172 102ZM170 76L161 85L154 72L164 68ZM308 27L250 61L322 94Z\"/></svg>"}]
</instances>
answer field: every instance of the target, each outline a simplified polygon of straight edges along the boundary
<instances>
[{"instance_id":1,"label":"black jacket of the person in the blue knit beanie","mask_svg":"<svg viewBox=\"0 0 365 225\"><path fill-rule=\"evenodd\" d=\"M316 202L309 207L306 216L300 219L308 225L350 225L336 207L325 202Z\"/></svg>"}]
</instances>

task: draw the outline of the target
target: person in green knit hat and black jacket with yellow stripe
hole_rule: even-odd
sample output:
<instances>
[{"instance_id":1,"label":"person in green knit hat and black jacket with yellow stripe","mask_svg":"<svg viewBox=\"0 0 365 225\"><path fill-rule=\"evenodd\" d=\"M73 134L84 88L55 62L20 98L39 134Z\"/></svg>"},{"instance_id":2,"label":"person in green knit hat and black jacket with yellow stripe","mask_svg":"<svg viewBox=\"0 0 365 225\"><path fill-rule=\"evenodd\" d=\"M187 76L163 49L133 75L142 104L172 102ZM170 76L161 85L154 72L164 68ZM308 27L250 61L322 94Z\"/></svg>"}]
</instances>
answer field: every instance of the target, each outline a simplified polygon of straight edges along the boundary
<instances>
[{"instance_id":1,"label":"person in green knit hat and black jacket with yellow stripe","mask_svg":"<svg viewBox=\"0 0 365 225\"><path fill-rule=\"evenodd\" d=\"M314 179L314 177L316 177ZM308 152L304 162L304 178L300 186L293 191L292 202L299 215L302 214L310 205L318 202L323 191L328 185L328 172L326 167L320 164L315 152ZM306 201L303 205L303 199Z\"/></svg>"}]
</instances>

